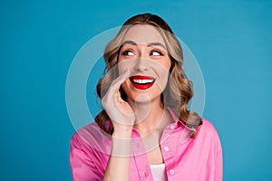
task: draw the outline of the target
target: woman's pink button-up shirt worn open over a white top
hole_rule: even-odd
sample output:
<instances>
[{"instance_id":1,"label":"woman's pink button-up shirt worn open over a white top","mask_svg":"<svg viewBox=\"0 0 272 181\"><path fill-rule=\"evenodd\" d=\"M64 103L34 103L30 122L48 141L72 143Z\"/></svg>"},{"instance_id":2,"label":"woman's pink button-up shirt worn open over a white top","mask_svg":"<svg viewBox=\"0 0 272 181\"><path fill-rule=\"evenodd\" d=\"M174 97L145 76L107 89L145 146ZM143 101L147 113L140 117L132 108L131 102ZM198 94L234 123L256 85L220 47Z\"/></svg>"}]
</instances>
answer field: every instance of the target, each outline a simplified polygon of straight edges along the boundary
<instances>
[{"instance_id":1,"label":"woman's pink button-up shirt worn open over a white top","mask_svg":"<svg viewBox=\"0 0 272 181\"><path fill-rule=\"evenodd\" d=\"M206 119L195 138L170 111L175 123L168 125L160 138L161 154L169 181L221 181L223 160L219 135ZM140 134L131 135L130 180L152 181L151 167ZM111 154L112 139L95 122L79 129L71 139L70 164L73 181L102 180Z\"/></svg>"}]
</instances>

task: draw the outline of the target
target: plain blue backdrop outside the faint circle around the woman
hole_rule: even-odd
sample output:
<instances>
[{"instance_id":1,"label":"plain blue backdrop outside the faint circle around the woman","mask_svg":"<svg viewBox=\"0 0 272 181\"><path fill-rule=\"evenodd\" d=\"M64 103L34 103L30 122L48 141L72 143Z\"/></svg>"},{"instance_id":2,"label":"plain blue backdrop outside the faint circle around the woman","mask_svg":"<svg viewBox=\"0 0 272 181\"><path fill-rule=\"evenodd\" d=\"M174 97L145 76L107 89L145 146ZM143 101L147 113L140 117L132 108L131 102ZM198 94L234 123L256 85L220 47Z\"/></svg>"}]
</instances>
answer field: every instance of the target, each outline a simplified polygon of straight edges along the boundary
<instances>
[{"instance_id":1,"label":"plain blue backdrop outside the faint circle around the woman","mask_svg":"<svg viewBox=\"0 0 272 181\"><path fill-rule=\"evenodd\" d=\"M1 180L72 180L73 57L134 14L159 14L196 56L224 180L271 180L272 1L9 1L0 7Z\"/></svg>"}]
</instances>

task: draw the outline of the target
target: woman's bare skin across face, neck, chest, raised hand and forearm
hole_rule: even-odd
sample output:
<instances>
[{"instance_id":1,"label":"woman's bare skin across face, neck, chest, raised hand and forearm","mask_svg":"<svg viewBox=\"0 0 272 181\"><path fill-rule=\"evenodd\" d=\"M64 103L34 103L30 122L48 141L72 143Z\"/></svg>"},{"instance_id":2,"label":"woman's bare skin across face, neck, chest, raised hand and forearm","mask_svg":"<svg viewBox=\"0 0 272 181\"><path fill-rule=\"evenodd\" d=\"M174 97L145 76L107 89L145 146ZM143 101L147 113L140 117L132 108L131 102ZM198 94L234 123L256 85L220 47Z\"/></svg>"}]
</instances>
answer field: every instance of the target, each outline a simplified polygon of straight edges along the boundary
<instances>
[{"instance_id":1,"label":"woman's bare skin across face, neck, chest, raised hand and forearm","mask_svg":"<svg viewBox=\"0 0 272 181\"><path fill-rule=\"evenodd\" d=\"M151 25L134 25L123 38L118 60L120 76L112 82L102 99L102 106L114 128L112 155L103 180L129 180L132 129L138 130L146 150L149 150L150 164L163 163L160 136L173 122L160 102L171 64L165 47L160 32ZM151 88L138 90L129 79L133 75L151 76L156 81ZM121 99L120 87L128 95L127 101ZM117 157L117 153L128 157Z\"/></svg>"}]
</instances>

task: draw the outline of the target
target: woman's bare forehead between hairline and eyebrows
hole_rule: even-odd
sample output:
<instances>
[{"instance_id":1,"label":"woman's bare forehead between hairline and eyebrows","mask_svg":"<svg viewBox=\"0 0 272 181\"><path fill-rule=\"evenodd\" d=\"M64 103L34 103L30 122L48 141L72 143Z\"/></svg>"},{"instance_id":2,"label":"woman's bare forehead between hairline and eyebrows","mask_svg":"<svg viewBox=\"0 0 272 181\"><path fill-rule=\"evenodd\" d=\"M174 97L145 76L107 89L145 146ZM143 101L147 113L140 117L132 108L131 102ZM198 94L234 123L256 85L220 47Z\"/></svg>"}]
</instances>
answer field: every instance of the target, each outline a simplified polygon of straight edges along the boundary
<instances>
[{"instance_id":1,"label":"woman's bare forehead between hairline and eyebrows","mask_svg":"<svg viewBox=\"0 0 272 181\"><path fill-rule=\"evenodd\" d=\"M151 25L133 25L125 34L123 41L133 41L135 43L161 43L165 45L164 40L158 28Z\"/></svg>"}]
</instances>

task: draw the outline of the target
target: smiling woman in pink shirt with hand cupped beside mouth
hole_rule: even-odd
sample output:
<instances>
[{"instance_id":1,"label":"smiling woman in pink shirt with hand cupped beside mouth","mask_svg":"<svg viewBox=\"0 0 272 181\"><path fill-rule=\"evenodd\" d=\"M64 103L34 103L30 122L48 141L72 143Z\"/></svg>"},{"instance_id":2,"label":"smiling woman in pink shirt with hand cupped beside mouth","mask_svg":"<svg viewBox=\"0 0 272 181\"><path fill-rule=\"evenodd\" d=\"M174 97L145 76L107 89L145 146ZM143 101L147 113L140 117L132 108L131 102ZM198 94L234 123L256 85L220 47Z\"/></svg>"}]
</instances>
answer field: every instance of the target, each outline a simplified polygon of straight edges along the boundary
<instances>
[{"instance_id":1,"label":"smiling woman in pink shirt with hand cupped beside mouth","mask_svg":"<svg viewBox=\"0 0 272 181\"><path fill-rule=\"evenodd\" d=\"M131 17L104 60L104 110L73 135L73 180L222 180L218 133L187 108L191 82L170 26L154 14Z\"/></svg>"}]
</instances>

